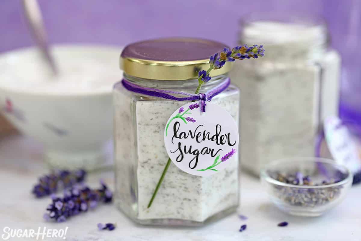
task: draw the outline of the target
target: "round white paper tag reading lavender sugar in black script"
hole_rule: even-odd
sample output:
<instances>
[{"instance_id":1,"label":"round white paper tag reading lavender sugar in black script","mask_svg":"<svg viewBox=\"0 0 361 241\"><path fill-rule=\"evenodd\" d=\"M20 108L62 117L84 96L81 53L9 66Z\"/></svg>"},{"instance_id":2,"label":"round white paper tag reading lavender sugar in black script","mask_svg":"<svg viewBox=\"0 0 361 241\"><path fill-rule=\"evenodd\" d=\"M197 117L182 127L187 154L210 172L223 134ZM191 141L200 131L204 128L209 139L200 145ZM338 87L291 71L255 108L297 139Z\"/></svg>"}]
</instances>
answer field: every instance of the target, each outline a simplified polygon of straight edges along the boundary
<instances>
[{"instance_id":1,"label":"round white paper tag reading lavender sugar in black script","mask_svg":"<svg viewBox=\"0 0 361 241\"><path fill-rule=\"evenodd\" d=\"M209 176L238 162L238 125L222 107L188 103L170 116L164 143L172 162L184 172Z\"/></svg>"}]
</instances>

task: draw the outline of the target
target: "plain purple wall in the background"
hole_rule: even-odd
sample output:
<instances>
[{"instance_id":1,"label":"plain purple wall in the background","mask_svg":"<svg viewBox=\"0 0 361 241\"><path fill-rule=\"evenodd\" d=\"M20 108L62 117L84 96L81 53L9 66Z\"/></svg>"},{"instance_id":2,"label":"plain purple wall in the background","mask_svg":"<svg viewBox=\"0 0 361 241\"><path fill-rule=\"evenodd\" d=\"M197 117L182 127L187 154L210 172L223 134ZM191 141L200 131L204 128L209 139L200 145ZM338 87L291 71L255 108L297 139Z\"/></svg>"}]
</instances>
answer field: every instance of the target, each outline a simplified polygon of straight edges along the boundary
<instances>
[{"instance_id":1,"label":"plain purple wall in the background","mask_svg":"<svg viewBox=\"0 0 361 241\"><path fill-rule=\"evenodd\" d=\"M124 46L161 36L211 38L230 46L238 20L259 12L308 13L329 24L332 46L340 51L344 88L361 90L361 0L39 0L50 43L101 43ZM0 51L30 46L21 1L0 1ZM345 92L345 91L344 91ZM345 95L345 94L343 94ZM360 111L361 113L361 111Z\"/></svg>"}]
</instances>

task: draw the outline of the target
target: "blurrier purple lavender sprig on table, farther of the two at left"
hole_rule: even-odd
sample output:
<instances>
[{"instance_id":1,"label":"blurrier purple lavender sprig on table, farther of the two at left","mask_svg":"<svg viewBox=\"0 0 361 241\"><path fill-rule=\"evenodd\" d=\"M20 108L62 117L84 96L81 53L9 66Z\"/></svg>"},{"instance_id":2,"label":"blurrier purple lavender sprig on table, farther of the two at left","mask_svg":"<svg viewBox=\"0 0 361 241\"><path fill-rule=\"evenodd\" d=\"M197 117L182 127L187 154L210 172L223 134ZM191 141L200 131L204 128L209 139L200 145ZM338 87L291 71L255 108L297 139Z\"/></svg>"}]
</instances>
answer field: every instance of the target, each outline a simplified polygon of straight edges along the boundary
<instances>
[{"instance_id":1,"label":"blurrier purple lavender sprig on table, farther of the two at left","mask_svg":"<svg viewBox=\"0 0 361 241\"><path fill-rule=\"evenodd\" d=\"M70 172L68 170L54 171L48 175L39 178L39 183L34 185L32 193L37 197L45 197L56 193L58 189L70 188L71 186L83 182L86 177L86 171L79 169Z\"/></svg>"}]
</instances>

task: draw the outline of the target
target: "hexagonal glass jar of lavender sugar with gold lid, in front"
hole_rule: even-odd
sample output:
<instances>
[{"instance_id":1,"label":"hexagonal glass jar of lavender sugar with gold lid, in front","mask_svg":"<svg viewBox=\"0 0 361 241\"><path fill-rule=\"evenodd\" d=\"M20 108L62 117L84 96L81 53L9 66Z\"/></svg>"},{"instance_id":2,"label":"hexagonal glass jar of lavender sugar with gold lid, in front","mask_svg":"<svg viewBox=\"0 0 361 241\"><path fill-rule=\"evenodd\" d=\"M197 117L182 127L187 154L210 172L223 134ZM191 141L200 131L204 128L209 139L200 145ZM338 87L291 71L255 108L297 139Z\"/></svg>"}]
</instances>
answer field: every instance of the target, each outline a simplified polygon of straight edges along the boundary
<instances>
[{"instance_id":1,"label":"hexagonal glass jar of lavender sugar with gold lid, in front","mask_svg":"<svg viewBox=\"0 0 361 241\"><path fill-rule=\"evenodd\" d=\"M191 103L129 90L137 86L147 91L157 89L194 94L198 72L209 66L209 56L222 51L223 47L222 43L204 39L156 39L130 44L121 54L124 79L114 86L113 91L115 200L117 207L137 223L203 225L234 212L238 207L236 152L227 167L210 176L191 175L171 162L148 208L169 158L164 142L167 121L174 111ZM211 70L212 80L202 86L201 92L225 82L230 68L231 65L226 65ZM210 103L207 106L216 104L224 108L238 123L237 87L229 85L214 96L212 102L206 103Z\"/></svg>"}]
</instances>

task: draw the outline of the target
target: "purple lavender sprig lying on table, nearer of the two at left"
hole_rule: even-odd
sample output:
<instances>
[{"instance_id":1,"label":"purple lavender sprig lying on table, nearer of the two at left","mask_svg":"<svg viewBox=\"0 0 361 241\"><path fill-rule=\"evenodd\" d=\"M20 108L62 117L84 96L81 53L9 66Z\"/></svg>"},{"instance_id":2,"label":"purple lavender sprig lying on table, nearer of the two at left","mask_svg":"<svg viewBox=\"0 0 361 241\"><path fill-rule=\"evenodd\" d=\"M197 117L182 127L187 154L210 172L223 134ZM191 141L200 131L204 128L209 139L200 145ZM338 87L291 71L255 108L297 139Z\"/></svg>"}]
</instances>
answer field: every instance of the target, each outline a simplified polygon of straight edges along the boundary
<instances>
[{"instance_id":1,"label":"purple lavender sprig lying on table, nearer of the two at left","mask_svg":"<svg viewBox=\"0 0 361 241\"><path fill-rule=\"evenodd\" d=\"M73 187L65 190L62 198L52 197L52 203L47 207L48 212L44 214L44 219L63 222L71 216L97 207L100 202L112 202L112 198L113 193L104 182L101 182L100 189L90 189L87 186Z\"/></svg>"}]
</instances>

